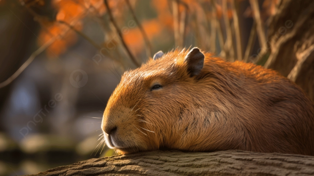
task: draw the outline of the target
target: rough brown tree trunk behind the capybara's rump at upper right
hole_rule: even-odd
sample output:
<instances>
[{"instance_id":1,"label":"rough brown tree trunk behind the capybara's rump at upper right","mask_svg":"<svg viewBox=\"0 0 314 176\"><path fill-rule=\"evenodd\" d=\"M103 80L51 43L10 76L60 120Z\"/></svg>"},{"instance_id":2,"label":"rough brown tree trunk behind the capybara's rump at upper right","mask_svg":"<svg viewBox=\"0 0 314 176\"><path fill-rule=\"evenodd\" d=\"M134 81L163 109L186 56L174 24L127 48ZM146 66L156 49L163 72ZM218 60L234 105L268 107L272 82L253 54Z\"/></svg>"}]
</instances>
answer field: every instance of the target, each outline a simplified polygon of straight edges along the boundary
<instances>
[{"instance_id":1,"label":"rough brown tree trunk behind the capybara's rump at upper right","mask_svg":"<svg viewBox=\"0 0 314 176\"><path fill-rule=\"evenodd\" d=\"M314 101L314 1L281 0L268 30L266 68L298 84Z\"/></svg>"}]
</instances>

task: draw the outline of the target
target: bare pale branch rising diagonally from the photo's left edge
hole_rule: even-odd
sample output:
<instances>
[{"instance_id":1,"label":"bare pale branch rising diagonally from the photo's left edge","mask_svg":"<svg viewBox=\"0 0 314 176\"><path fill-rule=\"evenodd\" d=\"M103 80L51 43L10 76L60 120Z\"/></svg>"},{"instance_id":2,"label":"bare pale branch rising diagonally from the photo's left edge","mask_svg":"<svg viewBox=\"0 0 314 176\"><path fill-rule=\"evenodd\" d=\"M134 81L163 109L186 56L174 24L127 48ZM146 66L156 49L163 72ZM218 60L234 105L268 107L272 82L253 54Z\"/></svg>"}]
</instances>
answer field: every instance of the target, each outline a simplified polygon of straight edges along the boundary
<instances>
[{"instance_id":1,"label":"bare pale branch rising diagonally from the photo's left edge","mask_svg":"<svg viewBox=\"0 0 314 176\"><path fill-rule=\"evenodd\" d=\"M48 48L53 42L55 42L59 38L61 38L61 35L57 35L57 36L52 37L44 45L42 45L40 48L38 48L36 51L34 51L30 55L30 57L23 63L23 65L21 67L19 67L19 69L16 72L14 72L14 74L12 76L10 76L7 80L0 83L0 88L3 88L5 86L7 86L8 84L10 84L15 78L17 78L25 70L25 68L27 66L30 65L30 63L32 63L32 61L35 59L36 56L38 56L41 52L43 52L46 48Z\"/></svg>"}]
</instances>

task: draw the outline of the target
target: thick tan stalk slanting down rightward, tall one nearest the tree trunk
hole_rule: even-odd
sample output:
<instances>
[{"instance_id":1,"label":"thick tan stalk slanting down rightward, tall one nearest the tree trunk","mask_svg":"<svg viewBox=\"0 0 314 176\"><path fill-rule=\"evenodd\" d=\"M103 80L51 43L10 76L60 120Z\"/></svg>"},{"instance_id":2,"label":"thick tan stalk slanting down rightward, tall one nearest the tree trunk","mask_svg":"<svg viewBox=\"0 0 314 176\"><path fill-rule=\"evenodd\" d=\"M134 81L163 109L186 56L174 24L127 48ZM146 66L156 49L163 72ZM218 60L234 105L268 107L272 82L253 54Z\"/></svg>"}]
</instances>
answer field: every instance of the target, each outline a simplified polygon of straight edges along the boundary
<instances>
[{"instance_id":1,"label":"thick tan stalk slanting down rightward, tall one nearest the tree trunk","mask_svg":"<svg viewBox=\"0 0 314 176\"><path fill-rule=\"evenodd\" d=\"M258 41L261 47L260 53L264 53L266 52L266 49L267 49L267 42L266 42L266 37L265 37L263 21L261 19L261 14L259 11L258 1L250 0L250 4L253 11L254 20L256 21L257 36L258 36Z\"/></svg>"}]
</instances>

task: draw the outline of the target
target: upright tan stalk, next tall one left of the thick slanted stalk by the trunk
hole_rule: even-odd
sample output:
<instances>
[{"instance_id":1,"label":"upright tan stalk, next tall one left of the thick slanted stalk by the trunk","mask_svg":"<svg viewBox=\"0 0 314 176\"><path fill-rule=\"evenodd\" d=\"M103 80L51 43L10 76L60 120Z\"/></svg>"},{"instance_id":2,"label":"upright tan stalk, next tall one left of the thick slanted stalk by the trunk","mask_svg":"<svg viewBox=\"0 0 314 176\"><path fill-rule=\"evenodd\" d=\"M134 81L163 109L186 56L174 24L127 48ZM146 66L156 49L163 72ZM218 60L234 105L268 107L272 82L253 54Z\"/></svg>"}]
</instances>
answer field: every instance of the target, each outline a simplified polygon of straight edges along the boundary
<instances>
[{"instance_id":1,"label":"upright tan stalk, next tall one left of the thick slanted stalk by the trunk","mask_svg":"<svg viewBox=\"0 0 314 176\"><path fill-rule=\"evenodd\" d=\"M236 35L236 53L237 58L239 61L242 60L242 47L241 47L241 34L240 34L240 26L239 26L239 18L236 11L235 0L231 1L231 8L232 8L232 16L233 16L233 24L235 28L235 35Z\"/></svg>"}]
</instances>

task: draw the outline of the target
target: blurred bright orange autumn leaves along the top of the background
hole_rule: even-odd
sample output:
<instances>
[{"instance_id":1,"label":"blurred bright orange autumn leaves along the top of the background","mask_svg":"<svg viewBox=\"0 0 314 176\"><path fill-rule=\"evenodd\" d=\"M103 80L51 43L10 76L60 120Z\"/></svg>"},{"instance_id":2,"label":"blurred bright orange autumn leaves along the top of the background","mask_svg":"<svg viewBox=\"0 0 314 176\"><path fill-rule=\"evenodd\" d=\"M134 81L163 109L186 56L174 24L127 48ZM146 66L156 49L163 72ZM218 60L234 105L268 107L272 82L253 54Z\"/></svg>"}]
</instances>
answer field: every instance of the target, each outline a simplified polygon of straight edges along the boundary
<instances>
[{"instance_id":1,"label":"blurred bright orange autumn leaves along the top of the background","mask_svg":"<svg viewBox=\"0 0 314 176\"><path fill-rule=\"evenodd\" d=\"M23 0L21 0L23 1ZM231 0L226 0L228 3ZM238 0L239 2L243 0ZM131 0L132 8L135 9L137 6L137 0ZM215 5L216 9L216 17L221 19L223 16L221 2L211 1L211 0L181 0L178 2L178 13L179 18L182 12L185 12L192 19L189 23L191 25L187 25L186 30L184 30L184 34L191 32L192 30L198 30L202 34L202 27L196 26L193 23L193 20L196 20L197 23L205 24L213 18L213 14L211 13L210 6ZM263 1L262 8L265 10L262 11L261 15L264 20L267 19L268 16L272 15L275 12L275 6L278 3L278 0L265 0ZM28 7L31 6L42 6L45 4L43 0L27 0L24 1L24 4L28 4ZM115 20L118 22L119 26L122 28L125 26L125 17L130 15L128 10L127 3L125 0L109 0L109 7L113 13ZM173 9L171 7L171 0L151 0L150 1L151 8L153 8L157 16L156 18L146 19L144 21L140 21L145 33L148 36L149 40L153 40L154 38L158 38L162 36L162 33L167 31L174 30L174 16ZM62 53L66 52L67 49L75 44L78 40L78 34L72 29L69 29L71 26L73 29L77 31L82 31L84 28L83 19L86 17L96 18L98 20L103 20L104 23L109 24L109 20L106 19L107 9L103 0L52 0L51 6L56 11L55 19L50 22L41 23L42 29L39 34L38 43L39 45L43 45L47 41L51 39L53 36L63 35L61 39L56 40L52 45L49 46L47 50L47 54L49 56L58 56ZM206 9L208 8L208 9ZM228 5L228 18L231 20L233 18L232 11L230 6ZM248 7L243 14L246 17L252 17L252 10ZM39 22L41 22L39 20ZM112 26L111 26L112 27ZM111 29L115 31L115 29ZM111 32L112 32L111 31ZM203 32L205 29L203 30ZM110 33L110 31L107 31ZM105 31L106 33L106 31ZM108 37L110 38L110 37ZM142 52L145 43L143 40L143 35L141 34L138 26L134 26L128 28L128 30L123 32L123 38L125 43L130 47L130 50L133 54L137 55ZM109 40L109 39L108 39ZM203 40L208 40L206 37ZM106 45L104 41L101 45ZM116 41L118 42L118 41ZM206 41L200 41L201 43L206 43Z\"/></svg>"}]
</instances>

